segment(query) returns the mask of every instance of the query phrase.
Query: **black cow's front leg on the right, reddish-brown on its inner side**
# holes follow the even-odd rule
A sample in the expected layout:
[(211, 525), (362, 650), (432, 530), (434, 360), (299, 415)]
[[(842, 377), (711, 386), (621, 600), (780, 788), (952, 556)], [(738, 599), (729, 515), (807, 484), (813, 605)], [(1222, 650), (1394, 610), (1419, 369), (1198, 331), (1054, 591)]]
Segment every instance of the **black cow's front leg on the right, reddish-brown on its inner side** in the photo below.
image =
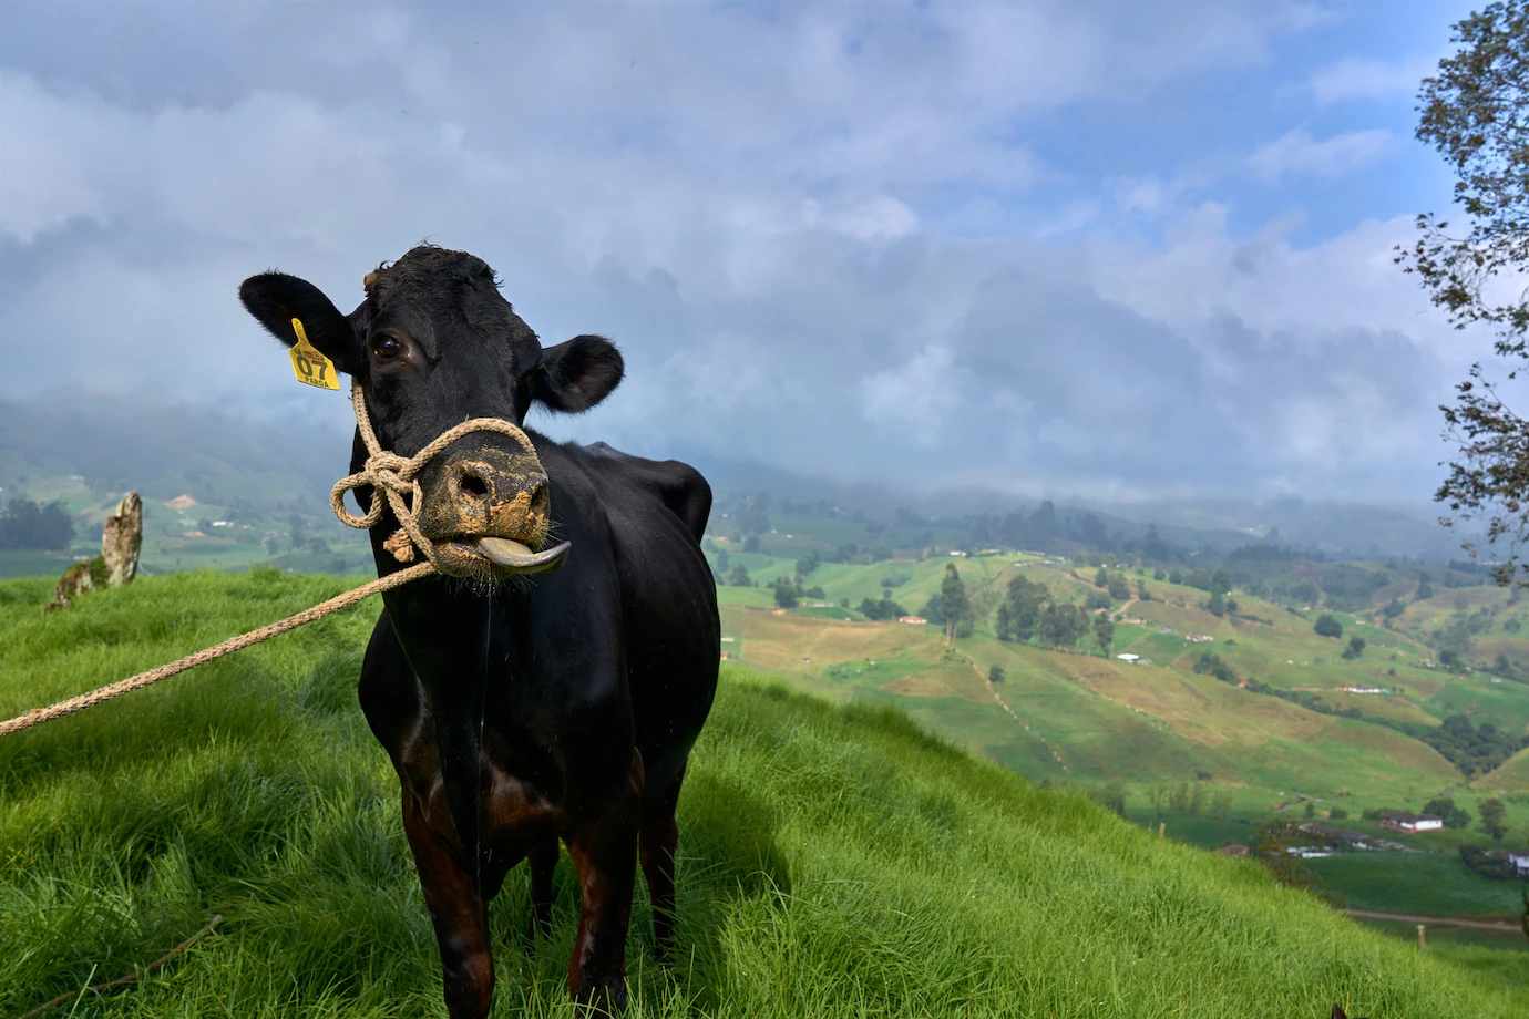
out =
[(569, 993), (609, 1013), (627, 1007), (627, 927), (638, 869), (642, 758), (631, 752), (624, 781), (589, 802), (570, 805), (569, 856), (578, 868), (581, 909)]

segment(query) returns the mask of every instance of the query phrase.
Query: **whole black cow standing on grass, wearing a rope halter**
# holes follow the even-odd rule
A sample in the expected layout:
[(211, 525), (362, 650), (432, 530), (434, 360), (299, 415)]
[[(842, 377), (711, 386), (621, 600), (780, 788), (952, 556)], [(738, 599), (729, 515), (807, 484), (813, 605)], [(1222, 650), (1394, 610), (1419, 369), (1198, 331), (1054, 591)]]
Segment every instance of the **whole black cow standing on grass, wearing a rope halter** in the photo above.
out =
[[(579, 412), (621, 382), (599, 336), (543, 348), (482, 260), (414, 247), (365, 277), (341, 315), (312, 284), (268, 272), (240, 299), (289, 347), (292, 319), (365, 393), (384, 449), (413, 455), (469, 417), (524, 420), (532, 402)], [(674, 805), (717, 684), (716, 588), (700, 552), (711, 489), (676, 461), (604, 443), (535, 449), (471, 432), (420, 474), (420, 532), (451, 576), (384, 594), (361, 707), (404, 790), (404, 830), (440, 943), (446, 1008), (483, 1016), (494, 993), (488, 901), (531, 862), (531, 938), (552, 918), (567, 843), (583, 892), (569, 992), (625, 1004), (636, 857), (661, 958), (674, 930)], [(352, 471), (365, 451), (359, 435)], [(381, 498), (359, 492), (362, 506)], [(372, 529), (378, 571), (401, 568)], [(572, 542), (566, 564), (512, 576), (515, 542)], [(521, 550), (524, 552), (524, 550)]]

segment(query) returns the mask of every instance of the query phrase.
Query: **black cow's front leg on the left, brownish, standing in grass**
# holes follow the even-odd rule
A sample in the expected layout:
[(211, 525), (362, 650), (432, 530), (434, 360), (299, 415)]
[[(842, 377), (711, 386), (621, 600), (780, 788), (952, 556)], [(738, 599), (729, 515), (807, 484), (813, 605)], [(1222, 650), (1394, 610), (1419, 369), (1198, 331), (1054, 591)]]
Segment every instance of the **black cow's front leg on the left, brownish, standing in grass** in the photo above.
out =
[(440, 946), (440, 973), (451, 1019), (482, 1019), (494, 999), (488, 911), (462, 860), (430, 827), (425, 805), (404, 788), (404, 833)]

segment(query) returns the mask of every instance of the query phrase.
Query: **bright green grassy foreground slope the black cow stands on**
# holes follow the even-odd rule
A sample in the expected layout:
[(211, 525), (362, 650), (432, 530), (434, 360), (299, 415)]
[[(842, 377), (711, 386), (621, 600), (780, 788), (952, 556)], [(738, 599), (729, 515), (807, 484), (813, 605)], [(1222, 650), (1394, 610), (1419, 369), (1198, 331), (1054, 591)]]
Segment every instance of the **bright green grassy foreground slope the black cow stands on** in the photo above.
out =
[[(0, 712), (341, 587), (177, 574), (44, 616), (46, 582), (0, 584)], [(0, 1010), (125, 973), (222, 912), (162, 976), (75, 1014), (442, 1014), (394, 779), (355, 706), (375, 611), (0, 739)], [(1335, 1001), (1509, 1016), (1521, 979), (1471, 946), (1420, 956), (1255, 863), (1159, 840), (904, 715), (740, 669), (723, 674), (680, 823), (685, 959), (673, 976), (644, 961), (639, 904), (638, 1016), (1315, 1017)], [(511, 878), (492, 909), (495, 1014), (570, 1014), (575, 900), (564, 860), (555, 937), (528, 959)]]

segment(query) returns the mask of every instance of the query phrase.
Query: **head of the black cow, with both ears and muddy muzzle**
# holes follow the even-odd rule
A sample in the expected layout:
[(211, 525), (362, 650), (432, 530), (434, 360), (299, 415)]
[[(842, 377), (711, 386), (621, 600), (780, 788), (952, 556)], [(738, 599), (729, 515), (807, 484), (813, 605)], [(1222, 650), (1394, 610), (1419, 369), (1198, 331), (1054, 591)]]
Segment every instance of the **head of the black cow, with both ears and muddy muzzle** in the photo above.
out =
[[(471, 417), (520, 425), (534, 400), (587, 411), (621, 382), (621, 354), (601, 336), (543, 348), (474, 255), (414, 247), (367, 273), (364, 286), (367, 298), (350, 315), (280, 272), (245, 280), (239, 298), (287, 347), (298, 342), (292, 319), (300, 319), (307, 341), (361, 383), (378, 440), (399, 455)], [(436, 542), (446, 573), (515, 573), (508, 542), (537, 550), (547, 541), (546, 471), (509, 435), (463, 435), (419, 483), (420, 533)]]

